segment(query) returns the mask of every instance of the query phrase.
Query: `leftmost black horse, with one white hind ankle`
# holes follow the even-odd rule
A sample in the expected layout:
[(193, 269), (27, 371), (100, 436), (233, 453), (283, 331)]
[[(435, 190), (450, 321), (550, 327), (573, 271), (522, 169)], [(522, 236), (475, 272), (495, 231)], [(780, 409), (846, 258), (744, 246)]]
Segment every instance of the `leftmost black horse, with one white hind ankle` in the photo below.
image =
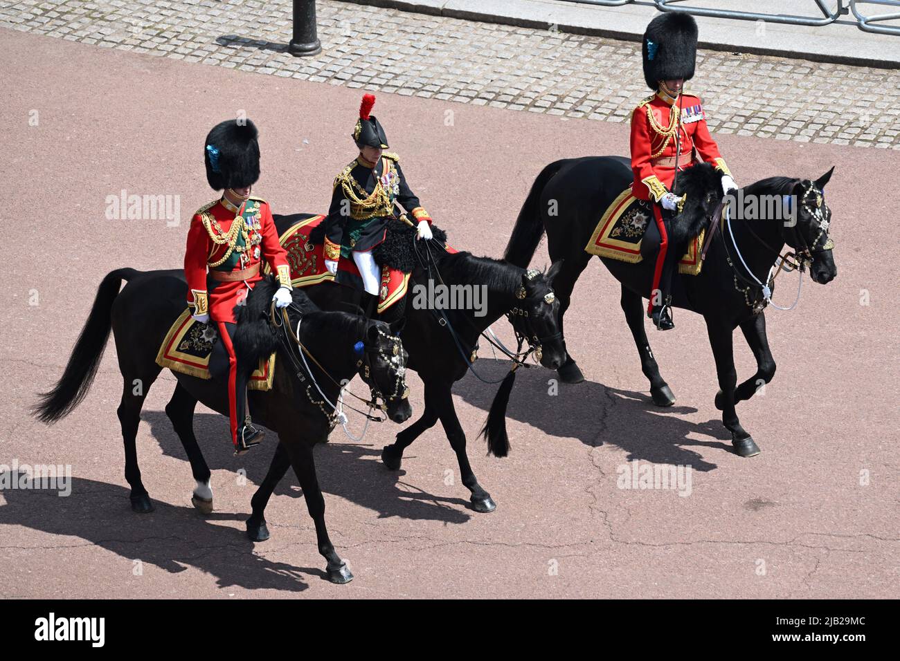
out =
[[(128, 284), (120, 291), (122, 280)], [(277, 354), (272, 389), (251, 390), (249, 408), (255, 421), (278, 434), (279, 451), (300, 480), (316, 525), (319, 551), (328, 560), (329, 580), (347, 583), (353, 576), (329, 540), (325, 500), (313, 460), (313, 448), (328, 440), (335, 424), (333, 409), (329, 410), (322, 395), (335, 402), (340, 382), (358, 373), (373, 390), (373, 399), (383, 397), (388, 417), (397, 423), (404, 422), (412, 415), (403, 378), (408, 354), (395, 336), (396, 329), (346, 312), (322, 311), (302, 290), (293, 292), (293, 304), (285, 308), (289, 310), (290, 330), (285, 333), (287, 326), (276, 330), (267, 318), (276, 287), (272, 279), (257, 283), (238, 313), (235, 348), (241, 366), (255, 364), (260, 357), (273, 352)], [(182, 271), (118, 269), (108, 273), (97, 290), (94, 307), (62, 378), (40, 397), (40, 403), (34, 408), (40, 420), (52, 423), (69, 414), (84, 399), (112, 328), (123, 380), (118, 415), (125, 443), (125, 478), (131, 487), (131, 508), (138, 513), (153, 511), (140, 479), (135, 446), (140, 409), (162, 370), (156, 362), (157, 349), (169, 327), (184, 312), (186, 292)], [(284, 323), (284, 317), (281, 319)], [(362, 347), (358, 342), (363, 343)], [(311, 356), (305, 364), (300, 355), (301, 345)], [(193, 435), (193, 410), (197, 401), (201, 401), (227, 416), (229, 406), (224, 384), (227, 376), (202, 380), (175, 373), (175, 377), (178, 383), (166, 405), (166, 415), (184, 444), (197, 480), (193, 504), (209, 514), (212, 510), (210, 469)], [(316, 384), (320, 391), (314, 388)], [(265, 529), (265, 525), (265, 520), (254, 523), (251, 536), (259, 534), (259, 528)]]

